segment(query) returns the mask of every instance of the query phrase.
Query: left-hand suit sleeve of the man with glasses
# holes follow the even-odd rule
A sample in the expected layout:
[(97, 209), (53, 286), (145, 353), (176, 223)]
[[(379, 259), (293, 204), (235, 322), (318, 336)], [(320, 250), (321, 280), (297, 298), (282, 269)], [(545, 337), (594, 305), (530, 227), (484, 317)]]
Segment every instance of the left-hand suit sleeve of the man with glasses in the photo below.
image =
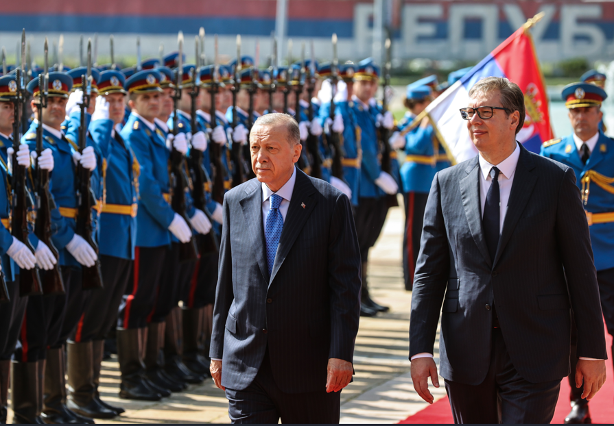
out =
[(418, 353), (433, 353), (449, 268), (449, 242), (442, 212), (439, 173), (437, 173), (431, 184), (425, 208), (420, 253), (414, 275), (410, 316), (410, 359)]

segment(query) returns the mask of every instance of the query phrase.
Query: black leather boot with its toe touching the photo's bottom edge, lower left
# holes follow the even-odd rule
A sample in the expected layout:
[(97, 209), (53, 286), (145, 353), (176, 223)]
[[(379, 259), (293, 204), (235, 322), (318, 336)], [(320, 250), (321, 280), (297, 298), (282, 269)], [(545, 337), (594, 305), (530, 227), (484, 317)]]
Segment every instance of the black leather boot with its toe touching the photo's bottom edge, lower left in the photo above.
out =
[(94, 421), (67, 408), (66, 358), (64, 348), (47, 349), (45, 366), (43, 421), (47, 424), (93, 424)]

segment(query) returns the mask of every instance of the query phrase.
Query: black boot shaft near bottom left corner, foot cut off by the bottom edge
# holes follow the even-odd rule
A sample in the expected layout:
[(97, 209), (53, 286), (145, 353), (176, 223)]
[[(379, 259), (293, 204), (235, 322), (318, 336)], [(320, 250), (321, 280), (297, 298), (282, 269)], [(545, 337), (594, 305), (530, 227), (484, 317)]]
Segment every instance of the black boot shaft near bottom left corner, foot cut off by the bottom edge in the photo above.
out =
[(13, 408), (13, 423), (40, 424), (38, 411), (38, 361), (10, 363), (11, 370), (11, 402)]

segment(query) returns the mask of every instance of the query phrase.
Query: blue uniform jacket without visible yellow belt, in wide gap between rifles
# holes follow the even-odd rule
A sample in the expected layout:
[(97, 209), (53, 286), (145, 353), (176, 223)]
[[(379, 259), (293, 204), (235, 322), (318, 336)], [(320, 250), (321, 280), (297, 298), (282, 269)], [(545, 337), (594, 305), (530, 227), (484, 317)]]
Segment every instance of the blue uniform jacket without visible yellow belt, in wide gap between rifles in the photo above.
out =
[(121, 138), (132, 147), (140, 164), (139, 210), (137, 213), (138, 247), (170, 245), (168, 230), (175, 212), (169, 204), (169, 150), (166, 141), (151, 130), (141, 118), (130, 114)]

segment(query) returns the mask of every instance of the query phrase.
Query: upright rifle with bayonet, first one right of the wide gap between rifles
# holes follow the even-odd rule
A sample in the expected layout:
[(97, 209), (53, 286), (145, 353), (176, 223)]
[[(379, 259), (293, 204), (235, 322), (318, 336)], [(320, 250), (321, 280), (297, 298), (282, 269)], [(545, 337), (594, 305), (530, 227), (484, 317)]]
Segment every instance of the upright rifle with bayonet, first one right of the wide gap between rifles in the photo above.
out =
[[(179, 32), (177, 37), (179, 45), (179, 56), (177, 58), (177, 69), (175, 70), (175, 94), (173, 95), (173, 135), (177, 136), (179, 132), (179, 121), (177, 104), (181, 99), (182, 79), (183, 79), (183, 33)], [(140, 42), (139, 42), (140, 44)], [(140, 54), (139, 54), (140, 56)], [(171, 163), (171, 207), (180, 215), (187, 223), (190, 230), (192, 229), (190, 221), (185, 213), (185, 188), (187, 188), (187, 176), (183, 164), (185, 156), (177, 151), (173, 146), (170, 155)], [(204, 210), (203, 210), (204, 212)], [(196, 249), (196, 240), (192, 236), (189, 242), (179, 242), (179, 261), (189, 262), (198, 259), (198, 250)]]

